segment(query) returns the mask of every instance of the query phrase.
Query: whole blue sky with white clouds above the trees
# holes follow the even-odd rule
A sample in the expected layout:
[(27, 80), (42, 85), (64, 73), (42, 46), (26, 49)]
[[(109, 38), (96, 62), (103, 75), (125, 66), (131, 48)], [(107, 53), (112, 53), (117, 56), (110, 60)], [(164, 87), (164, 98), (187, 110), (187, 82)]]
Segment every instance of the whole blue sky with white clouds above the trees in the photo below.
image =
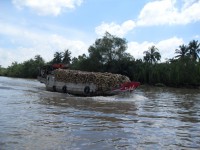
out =
[(0, 66), (67, 49), (87, 55), (105, 32), (125, 38), (135, 59), (155, 45), (166, 61), (200, 42), (200, 0), (0, 0)]

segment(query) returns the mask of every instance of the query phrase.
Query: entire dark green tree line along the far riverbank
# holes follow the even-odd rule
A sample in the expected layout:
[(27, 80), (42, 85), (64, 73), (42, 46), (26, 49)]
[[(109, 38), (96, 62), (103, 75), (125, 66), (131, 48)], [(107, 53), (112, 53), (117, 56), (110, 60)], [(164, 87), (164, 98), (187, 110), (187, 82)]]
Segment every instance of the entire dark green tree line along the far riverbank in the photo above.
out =
[(88, 56), (83, 54), (72, 58), (71, 52), (64, 50), (55, 52), (53, 59), (45, 62), (40, 55), (36, 55), (23, 63), (13, 62), (8, 68), (0, 67), (0, 75), (36, 78), (39, 67), (64, 63), (74, 70), (119, 73), (144, 84), (200, 86), (200, 43), (196, 40), (180, 45), (175, 50), (175, 56), (162, 63), (161, 54), (154, 45), (144, 51), (143, 59), (135, 59), (126, 50), (126, 39), (106, 32), (88, 48)]

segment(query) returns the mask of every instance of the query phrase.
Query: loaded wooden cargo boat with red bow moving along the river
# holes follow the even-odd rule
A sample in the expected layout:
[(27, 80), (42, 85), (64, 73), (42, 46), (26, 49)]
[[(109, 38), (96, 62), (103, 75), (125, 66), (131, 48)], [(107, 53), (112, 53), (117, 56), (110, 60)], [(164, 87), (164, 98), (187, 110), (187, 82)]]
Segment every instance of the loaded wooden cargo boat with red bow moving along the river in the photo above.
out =
[(133, 92), (139, 82), (131, 82), (121, 74), (71, 70), (67, 65), (54, 64), (40, 68), (38, 80), (48, 91), (79, 96), (111, 96)]

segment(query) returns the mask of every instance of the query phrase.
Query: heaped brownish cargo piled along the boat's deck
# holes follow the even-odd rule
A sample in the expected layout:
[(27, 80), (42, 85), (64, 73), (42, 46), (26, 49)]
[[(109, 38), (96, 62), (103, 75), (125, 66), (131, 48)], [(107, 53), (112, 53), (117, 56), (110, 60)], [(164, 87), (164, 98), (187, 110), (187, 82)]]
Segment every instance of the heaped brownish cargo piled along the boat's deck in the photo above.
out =
[(100, 72), (85, 72), (78, 70), (57, 69), (54, 71), (56, 80), (70, 83), (93, 83), (97, 86), (97, 90), (106, 91), (121, 85), (125, 82), (130, 82), (127, 76), (112, 73)]

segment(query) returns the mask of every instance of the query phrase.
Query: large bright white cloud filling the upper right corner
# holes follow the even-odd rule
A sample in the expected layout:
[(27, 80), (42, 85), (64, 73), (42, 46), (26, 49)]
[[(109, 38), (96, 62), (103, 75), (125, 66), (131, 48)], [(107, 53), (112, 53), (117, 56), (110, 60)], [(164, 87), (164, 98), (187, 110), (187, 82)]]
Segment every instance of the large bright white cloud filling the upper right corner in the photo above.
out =
[(182, 9), (177, 0), (156, 0), (147, 3), (141, 10), (137, 25), (188, 24), (200, 20), (200, 1), (184, 0)]

